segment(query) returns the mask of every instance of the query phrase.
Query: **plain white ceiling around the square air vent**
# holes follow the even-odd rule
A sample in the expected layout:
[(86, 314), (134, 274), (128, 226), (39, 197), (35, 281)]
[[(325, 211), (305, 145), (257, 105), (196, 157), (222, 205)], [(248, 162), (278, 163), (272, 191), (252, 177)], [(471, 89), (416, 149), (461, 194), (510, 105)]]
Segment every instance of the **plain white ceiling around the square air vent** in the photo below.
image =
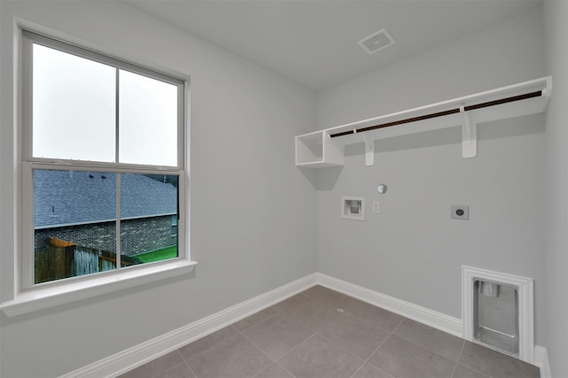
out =
[[(536, 0), (126, 0), (313, 90), (326, 89), (538, 7)], [(396, 44), (358, 42), (385, 28)]]

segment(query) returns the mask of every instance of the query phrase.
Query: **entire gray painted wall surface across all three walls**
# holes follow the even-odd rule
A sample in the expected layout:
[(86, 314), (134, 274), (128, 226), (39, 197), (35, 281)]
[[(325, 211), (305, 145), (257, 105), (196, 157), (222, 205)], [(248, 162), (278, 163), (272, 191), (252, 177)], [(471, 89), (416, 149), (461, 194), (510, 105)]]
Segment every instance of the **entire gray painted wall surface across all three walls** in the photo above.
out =
[[(460, 318), (463, 264), (536, 280), (536, 341), (548, 347), (554, 376), (568, 375), (565, 14), (565, 3), (547, 1), (546, 23), (535, 10), (316, 100), (124, 4), (0, 2), (2, 297), (12, 291), (5, 277), (18, 246), (14, 17), (191, 75), (191, 252), (199, 262), (190, 277), (0, 314), (0, 375), (64, 374), (314, 271)], [(461, 158), (456, 127), (378, 142), (374, 167), (364, 165), (362, 145), (347, 149), (343, 168), (293, 165), (294, 135), (549, 73), (547, 117), (479, 125), (475, 159)], [(390, 190), (379, 196), (382, 182)], [(365, 222), (339, 218), (343, 195), (367, 197)], [(370, 211), (373, 200), (380, 214)], [(449, 220), (450, 204), (469, 204), (470, 220)]]

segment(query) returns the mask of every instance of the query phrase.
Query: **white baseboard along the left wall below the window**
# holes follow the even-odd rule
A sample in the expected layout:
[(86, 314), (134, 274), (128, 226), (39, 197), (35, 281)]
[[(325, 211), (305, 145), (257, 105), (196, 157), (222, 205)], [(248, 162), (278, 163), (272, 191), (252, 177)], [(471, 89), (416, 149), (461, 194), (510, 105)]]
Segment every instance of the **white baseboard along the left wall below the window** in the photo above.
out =
[(214, 313), (201, 320), (194, 321), (185, 327), (177, 328), (165, 335), (155, 337), (145, 343), (120, 351), (105, 359), (100, 359), (90, 365), (83, 366), (60, 378), (100, 378), (115, 377), (131, 369), (144, 365), (146, 362), (160, 357), (170, 351), (207, 336), (217, 329), (224, 328), (235, 321), (246, 318), (255, 312), (270, 307), (288, 297), (316, 285), (316, 274), (310, 274), (290, 282), (280, 288), (273, 289), (258, 297), (249, 299), (238, 305), (233, 305), (221, 312)]

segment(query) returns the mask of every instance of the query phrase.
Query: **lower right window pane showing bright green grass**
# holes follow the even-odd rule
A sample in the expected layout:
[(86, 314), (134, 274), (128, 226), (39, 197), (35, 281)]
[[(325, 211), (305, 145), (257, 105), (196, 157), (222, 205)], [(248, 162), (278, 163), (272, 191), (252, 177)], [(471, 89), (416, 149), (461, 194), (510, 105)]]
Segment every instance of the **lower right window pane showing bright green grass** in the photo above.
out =
[(122, 266), (177, 258), (177, 175), (121, 175)]

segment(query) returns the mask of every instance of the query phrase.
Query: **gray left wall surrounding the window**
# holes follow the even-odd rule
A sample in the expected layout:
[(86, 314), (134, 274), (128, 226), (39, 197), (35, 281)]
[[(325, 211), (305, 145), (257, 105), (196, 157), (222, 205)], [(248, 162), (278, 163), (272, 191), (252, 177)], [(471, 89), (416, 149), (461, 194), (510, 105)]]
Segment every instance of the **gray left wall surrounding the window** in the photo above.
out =
[[(193, 276), (16, 318), (2, 313), (1, 376), (64, 374), (316, 271), (313, 174), (294, 166), (294, 135), (315, 125), (310, 91), (124, 4), (3, 1), (0, 12), (3, 281), (17, 248), (14, 17), (191, 75), (191, 253), (199, 262)], [(3, 285), (3, 296), (11, 289)]]

